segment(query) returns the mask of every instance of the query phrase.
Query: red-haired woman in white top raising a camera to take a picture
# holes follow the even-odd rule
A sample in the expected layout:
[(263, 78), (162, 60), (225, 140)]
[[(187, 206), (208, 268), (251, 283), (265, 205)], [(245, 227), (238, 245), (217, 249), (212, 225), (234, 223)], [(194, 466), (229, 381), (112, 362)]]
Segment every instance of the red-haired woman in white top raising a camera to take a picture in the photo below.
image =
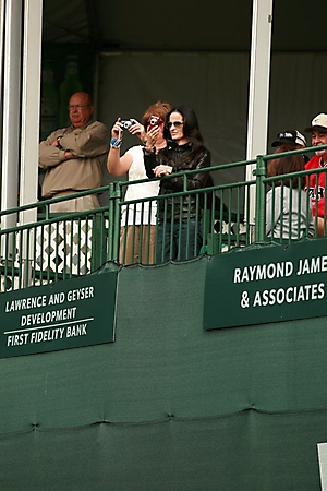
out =
[[(129, 132), (145, 142), (155, 153), (166, 147), (164, 139), (164, 122), (171, 109), (169, 103), (158, 100), (149, 106), (142, 117), (142, 123), (133, 119)], [(155, 118), (154, 118), (155, 117)], [(154, 120), (154, 121), (153, 121)], [(150, 124), (155, 122), (155, 124)], [(129, 181), (147, 179), (144, 167), (143, 145), (132, 146), (120, 156), (122, 129), (120, 118), (111, 130), (111, 145), (107, 167), (112, 176), (128, 173)], [(117, 144), (117, 142), (119, 142)], [(159, 181), (141, 182), (128, 187), (125, 201), (156, 196), (159, 192)], [(150, 206), (149, 206), (150, 205)], [(157, 202), (144, 202), (124, 205), (121, 216), (120, 262), (124, 264), (153, 264), (155, 262)], [(140, 252), (142, 250), (142, 256)]]

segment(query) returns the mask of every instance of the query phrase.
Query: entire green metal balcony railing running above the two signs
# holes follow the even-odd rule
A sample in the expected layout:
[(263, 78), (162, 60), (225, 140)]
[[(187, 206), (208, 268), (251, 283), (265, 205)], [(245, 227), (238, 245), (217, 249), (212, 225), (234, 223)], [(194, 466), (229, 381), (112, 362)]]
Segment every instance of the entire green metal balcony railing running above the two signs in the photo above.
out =
[[(307, 148), (305, 152), (312, 149)], [(303, 151), (278, 156), (300, 153)], [(217, 177), (215, 180), (219, 182), (219, 176), (225, 169), (242, 168), (245, 175), (247, 166), (254, 167), (254, 177), (247, 181), (187, 190), (190, 175), (207, 172), (207, 169), (201, 169), (162, 178), (181, 176), (183, 189), (178, 193), (124, 200), (125, 190), (131, 185), (148, 182), (144, 179), (114, 182), (93, 191), (2, 211), (1, 291), (89, 274), (107, 261), (149, 265), (167, 260), (183, 261), (202, 253), (221, 253), (250, 246), (252, 242), (275, 240), (274, 237), (266, 236), (266, 192), (268, 185), (272, 190), (276, 188), (277, 179), (283, 181), (290, 175), (267, 178), (267, 163), (272, 158), (276, 158), (276, 155), (258, 156), (253, 160), (210, 168), (210, 175)], [(324, 171), (325, 169), (315, 169), (298, 172), (296, 176), (318, 175)], [(104, 194), (106, 206), (78, 213), (50, 212), (50, 205), (55, 202), (94, 193)], [(251, 201), (253, 195), (255, 200)], [(252, 202), (255, 204), (254, 217)], [(307, 213), (310, 206), (307, 195)], [(180, 213), (181, 209), (183, 214)], [(171, 219), (171, 215), (174, 219)], [(31, 219), (31, 216), (34, 218)], [(164, 249), (159, 250), (158, 233), (166, 232), (172, 241), (174, 230), (182, 227), (185, 230), (185, 243), (182, 244), (180, 235), (177, 253), (173, 254), (170, 248), (168, 256), (165, 256)], [(192, 235), (202, 236), (199, 251), (195, 246), (193, 249), (189, 248), (194, 242)], [(301, 238), (299, 236), (299, 239)], [(287, 240), (291, 241), (291, 238)], [(184, 255), (183, 249), (186, 250)]]

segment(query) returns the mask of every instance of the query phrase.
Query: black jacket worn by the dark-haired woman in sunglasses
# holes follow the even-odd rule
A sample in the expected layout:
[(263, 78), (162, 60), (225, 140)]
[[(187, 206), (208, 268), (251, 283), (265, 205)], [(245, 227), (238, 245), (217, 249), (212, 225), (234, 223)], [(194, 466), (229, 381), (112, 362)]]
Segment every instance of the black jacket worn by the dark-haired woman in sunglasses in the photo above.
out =
[[(155, 177), (153, 169), (156, 166), (166, 165), (172, 167), (172, 175), (161, 179), (159, 195), (183, 191), (183, 176), (174, 177), (174, 173), (184, 170), (210, 167), (211, 156), (207, 148), (203, 146), (195, 155), (193, 155), (192, 149), (191, 142), (185, 143), (184, 145), (175, 145), (169, 142), (168, 146), (159, 151), (157, 155), (154, 153), (144, 153), (145, 169), (149, 179)], [(209, 172), (195, 172), (187, 176), (187, 191), (209, 185), (208, 179)], [(202, 197), (202, 194), (199, 194), (199, 204)], [(160, 218), (171, 219), (173, 215), (174, 219), (178, 219), (181, 212), (183, 218), (195, 217), (196, 215), (196, 194), (184, 195), (181, 197), (168, 197), (167, 207), (165, 207), (165, 201), (159, 200)], [(198, 209), (198, 213), (199, 212), (201, 209)]]

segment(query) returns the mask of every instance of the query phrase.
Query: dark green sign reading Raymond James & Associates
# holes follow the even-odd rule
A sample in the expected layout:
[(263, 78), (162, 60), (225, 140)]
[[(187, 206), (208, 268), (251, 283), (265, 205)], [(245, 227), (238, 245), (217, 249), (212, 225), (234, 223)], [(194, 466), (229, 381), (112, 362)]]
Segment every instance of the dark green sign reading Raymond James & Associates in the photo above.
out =
[(327, 315), (327, 239), (213, 256), (204, 328)]

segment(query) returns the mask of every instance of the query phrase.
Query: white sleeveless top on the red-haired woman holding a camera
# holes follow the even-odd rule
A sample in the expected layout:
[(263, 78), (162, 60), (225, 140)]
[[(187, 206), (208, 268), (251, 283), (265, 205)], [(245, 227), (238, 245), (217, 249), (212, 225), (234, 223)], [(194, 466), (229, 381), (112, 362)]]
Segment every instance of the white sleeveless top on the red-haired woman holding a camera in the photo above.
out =
[[(147, 179), (145, 167), (143, 146), (132, 146), (128, 149), (126, 154), (132, 155), (133, 161), (129, 170), (129, 181), (138, 181), (140, 179)], [(142, 197), (157, 196), (159, 193), (160, 181), (149, 181), (140, 184), (130, 184), (124, 197), (124, 201), (141, 200)], [(129, 215), (126, 221), (126, 208), (129, 206)], [(121, 226), (125, 225), (156, 225), (157, 215), (157, 200), (145, 201), (143, 203), (136, 203), (136, 211), (134, 214), (134, 203), (123, 205), (121, 207)], [(149, 207), (150, 207), (150, 221), (149, 221)], [(142, 220), (143, 209), (143, 220)]]

